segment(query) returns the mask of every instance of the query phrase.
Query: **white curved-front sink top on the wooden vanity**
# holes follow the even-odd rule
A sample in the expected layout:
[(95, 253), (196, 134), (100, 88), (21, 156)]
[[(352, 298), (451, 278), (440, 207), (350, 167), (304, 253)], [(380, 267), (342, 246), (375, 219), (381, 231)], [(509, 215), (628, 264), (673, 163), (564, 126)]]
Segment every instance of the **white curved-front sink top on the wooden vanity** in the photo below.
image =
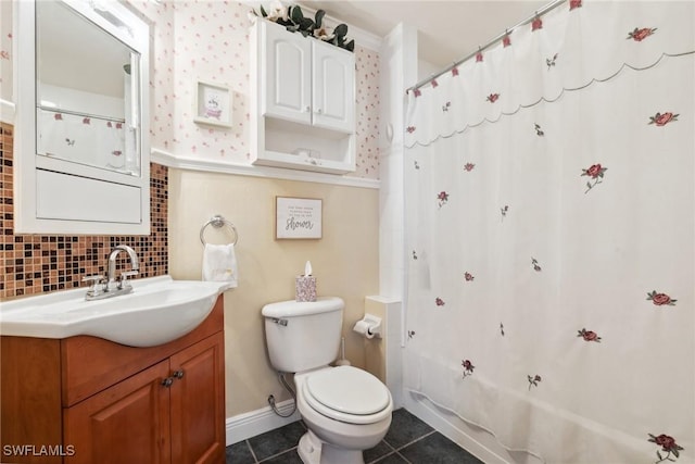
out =
[(86, 301), (86, 288), (2, 303), (0, 335), (66, 338), (90, 335), (130, 347), (154, 347), (193, 330), (212, 311), (227, 283), (132, 280), (132, 292)]

